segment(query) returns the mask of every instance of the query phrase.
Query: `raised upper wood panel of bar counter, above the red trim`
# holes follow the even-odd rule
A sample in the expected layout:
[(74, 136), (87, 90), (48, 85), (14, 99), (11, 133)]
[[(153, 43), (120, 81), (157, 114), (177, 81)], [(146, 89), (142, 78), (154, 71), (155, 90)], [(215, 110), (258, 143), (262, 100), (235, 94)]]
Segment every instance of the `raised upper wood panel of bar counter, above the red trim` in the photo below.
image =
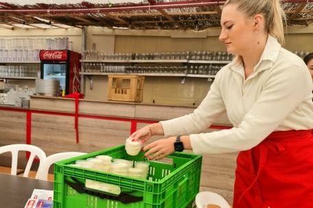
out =
[[(30, 96), (30, 110), (75, 114), (75, 99), (53, 96)], [(132, 120), (155, 121), (170, 120), (192, 114), (196, 106), (168, 105), (156, 103), (133, 103), (121, 101), (99, 101), (80, 99), (78, 114), (81, 116), (102, 116)], [(233, 127), (227, 114), (213, 123), (215, 126)]]

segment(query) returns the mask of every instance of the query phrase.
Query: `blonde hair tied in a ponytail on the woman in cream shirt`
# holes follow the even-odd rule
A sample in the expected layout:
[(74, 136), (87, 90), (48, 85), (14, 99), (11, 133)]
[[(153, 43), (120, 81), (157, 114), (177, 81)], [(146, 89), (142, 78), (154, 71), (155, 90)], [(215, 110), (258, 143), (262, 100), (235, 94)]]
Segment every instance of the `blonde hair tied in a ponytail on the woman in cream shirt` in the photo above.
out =
[(285, 36), (283, 33), (283, 21), (286, 23), (286, 15), (279, 4), (279, 0), (227, 0), (224, 7), (236, 3), (238, 10), (247, 18), (253, 18), (257, 14), (264, 16), (264, 29), (283, 45)]

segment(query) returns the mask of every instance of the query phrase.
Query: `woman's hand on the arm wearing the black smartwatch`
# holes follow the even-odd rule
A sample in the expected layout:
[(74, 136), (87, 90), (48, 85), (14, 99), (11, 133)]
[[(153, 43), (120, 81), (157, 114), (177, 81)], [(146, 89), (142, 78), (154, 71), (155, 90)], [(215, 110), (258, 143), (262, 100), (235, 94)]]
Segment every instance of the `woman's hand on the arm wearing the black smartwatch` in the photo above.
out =
[(176, 137), (152, 142), (142, 149), (142, 151), (148, 151), (144, 157), (147, 157), (149, 160), (160, 160), (175, 152), (174, 142), (176, 142)]

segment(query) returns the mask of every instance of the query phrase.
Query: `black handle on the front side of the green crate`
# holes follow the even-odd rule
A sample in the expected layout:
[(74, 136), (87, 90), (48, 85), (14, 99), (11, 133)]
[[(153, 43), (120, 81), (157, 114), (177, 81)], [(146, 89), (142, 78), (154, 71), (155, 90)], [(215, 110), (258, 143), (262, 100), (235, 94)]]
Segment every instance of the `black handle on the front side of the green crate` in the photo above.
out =
[(83, 183), (80, 183), (80, 181), (77, 181), (73, 177), (71, 177), (71, 179), (75, 182), (65, 180), (65, 183), (67, 183), (67, 185), (69, 185), (71, 188), (73, 188), (73, 190), (76, 190), (76, 192), (80, 194), (89, 194), (93, 196), (98, 196), (101, 199), (107, 198), (110, 200), (117, 200), (123, 204), (137, 203), (143, 200), (142, 196), (130, 196), (128, 194), (119, 194), (119, 196), (116, 196), (116, 195), (108, 194), (105, 192), (98, 192), (95, 190), (91, 190), (89, 188), (86, 188)]

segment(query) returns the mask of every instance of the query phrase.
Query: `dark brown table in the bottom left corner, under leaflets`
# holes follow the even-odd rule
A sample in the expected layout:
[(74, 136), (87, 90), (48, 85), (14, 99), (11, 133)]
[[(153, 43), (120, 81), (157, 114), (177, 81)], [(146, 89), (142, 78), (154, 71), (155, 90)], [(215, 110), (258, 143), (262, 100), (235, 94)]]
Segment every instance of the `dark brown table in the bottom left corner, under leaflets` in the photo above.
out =
[(34, 189), (54, 190), (54, 183), (0, 173), (0, 207), (25, 207)]

